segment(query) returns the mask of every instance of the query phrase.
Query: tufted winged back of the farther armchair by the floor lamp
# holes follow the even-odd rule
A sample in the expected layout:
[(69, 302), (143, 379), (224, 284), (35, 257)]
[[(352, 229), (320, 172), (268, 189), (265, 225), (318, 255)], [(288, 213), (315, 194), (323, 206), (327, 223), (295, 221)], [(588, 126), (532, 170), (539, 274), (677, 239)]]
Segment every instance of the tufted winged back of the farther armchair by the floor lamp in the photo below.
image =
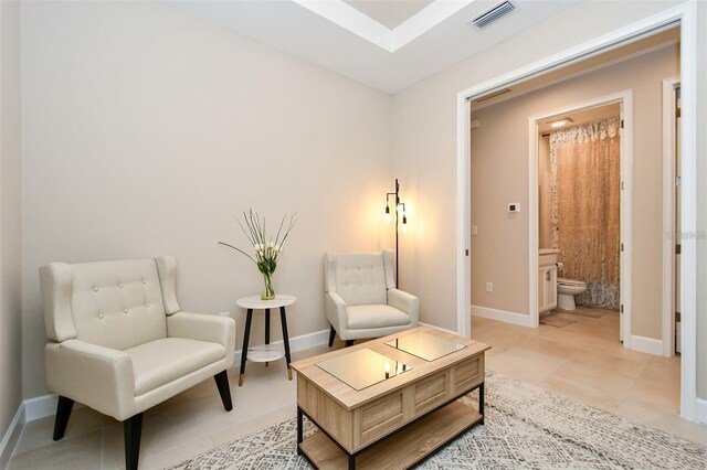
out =
[(393, 253), (326, 254), (325, 290), (337, 292), (348, 306), (386, 305), (395, 288)]

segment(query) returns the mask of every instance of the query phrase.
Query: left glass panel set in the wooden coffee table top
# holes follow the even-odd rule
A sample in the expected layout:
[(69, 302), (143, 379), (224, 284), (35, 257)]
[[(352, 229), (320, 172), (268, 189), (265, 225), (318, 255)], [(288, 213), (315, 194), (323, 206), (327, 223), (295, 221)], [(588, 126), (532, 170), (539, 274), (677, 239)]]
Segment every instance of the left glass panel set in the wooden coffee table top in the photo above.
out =
[(395, 362), (368, 348), (316, 364), (356, 391), (361, 391), (412, 370), (409, 365)]

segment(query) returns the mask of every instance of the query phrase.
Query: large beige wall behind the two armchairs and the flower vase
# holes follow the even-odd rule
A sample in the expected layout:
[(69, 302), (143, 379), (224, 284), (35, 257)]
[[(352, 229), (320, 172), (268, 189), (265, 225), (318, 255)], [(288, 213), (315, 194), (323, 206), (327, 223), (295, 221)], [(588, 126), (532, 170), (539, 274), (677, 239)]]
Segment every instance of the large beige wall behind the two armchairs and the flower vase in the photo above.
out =
[(262, 277), (217, 241), (244, 246), (249, 207), (298, 212), (275, 289), (298, 298), (292, 337), (328, 328), (324, 252), (392, 239), (389, 95), (160, 4), (25, 2), (22, 25), (27, 397), (46, 391), (48, 261), (175, 255), (182, 309), (231, 311), (240, 349), (235, 300)]

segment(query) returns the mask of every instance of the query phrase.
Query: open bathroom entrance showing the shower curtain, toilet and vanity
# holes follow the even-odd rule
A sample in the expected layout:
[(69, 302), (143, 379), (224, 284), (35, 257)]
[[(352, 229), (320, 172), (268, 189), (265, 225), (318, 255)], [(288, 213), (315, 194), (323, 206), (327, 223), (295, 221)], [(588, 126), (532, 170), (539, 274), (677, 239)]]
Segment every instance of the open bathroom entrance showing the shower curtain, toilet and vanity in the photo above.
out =
[(622, 340), (622, 184), (630, 168), (621, 164), (624, 99), (616, 98), (532, 118), (538, 210), (531, 216), (539, 323), (602, 319)]

